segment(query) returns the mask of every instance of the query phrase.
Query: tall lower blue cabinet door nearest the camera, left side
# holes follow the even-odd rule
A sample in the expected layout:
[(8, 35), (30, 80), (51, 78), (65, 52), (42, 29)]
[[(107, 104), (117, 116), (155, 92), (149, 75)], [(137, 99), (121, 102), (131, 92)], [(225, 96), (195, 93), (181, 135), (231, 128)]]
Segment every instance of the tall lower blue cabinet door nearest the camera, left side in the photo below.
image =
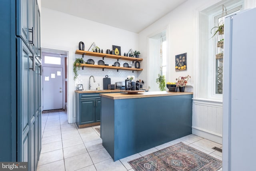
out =
[(29, 161), (30, 155), (30, 69), (33, 57), (26, 44), (17, 38), (17, 159)]

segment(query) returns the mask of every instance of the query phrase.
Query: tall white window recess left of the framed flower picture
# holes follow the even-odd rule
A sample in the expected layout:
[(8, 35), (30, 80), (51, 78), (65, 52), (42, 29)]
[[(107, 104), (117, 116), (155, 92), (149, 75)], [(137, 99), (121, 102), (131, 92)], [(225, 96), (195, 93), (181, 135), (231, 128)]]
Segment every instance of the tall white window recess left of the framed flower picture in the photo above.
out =
[(160, 91), (156, 78), (158, 74), (166, 77), (166, 29), (148, 38), (148, 88)]

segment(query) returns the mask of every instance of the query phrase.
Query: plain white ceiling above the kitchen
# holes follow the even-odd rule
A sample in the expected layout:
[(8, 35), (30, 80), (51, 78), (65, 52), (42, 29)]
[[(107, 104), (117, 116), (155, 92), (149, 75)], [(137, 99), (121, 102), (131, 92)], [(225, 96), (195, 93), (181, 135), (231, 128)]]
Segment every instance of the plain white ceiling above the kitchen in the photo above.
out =
[(42, 0), (42, 7), (139, 33), (186, 0)]

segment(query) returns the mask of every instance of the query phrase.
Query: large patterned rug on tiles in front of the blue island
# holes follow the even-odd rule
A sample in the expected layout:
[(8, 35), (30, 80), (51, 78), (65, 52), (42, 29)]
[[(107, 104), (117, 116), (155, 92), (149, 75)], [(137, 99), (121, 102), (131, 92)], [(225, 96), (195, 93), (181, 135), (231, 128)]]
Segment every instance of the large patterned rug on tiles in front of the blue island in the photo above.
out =
[(222, 161), (182, 142), (128, 162), (135, 171), (217, 171)]

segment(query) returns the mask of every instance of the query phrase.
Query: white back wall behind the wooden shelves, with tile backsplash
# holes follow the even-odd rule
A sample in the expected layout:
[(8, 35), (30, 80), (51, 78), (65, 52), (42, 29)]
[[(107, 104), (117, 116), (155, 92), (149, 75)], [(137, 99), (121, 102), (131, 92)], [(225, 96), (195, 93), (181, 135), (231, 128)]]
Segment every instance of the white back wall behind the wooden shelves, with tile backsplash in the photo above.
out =
[[(85, 89), (88, 89), (89, 77), (93, 75), (96, 79), (96, 83), (100, 83), (103, 88), (103, 78), (108, 75), (111, 78), (111, 83), (115, 84), (118, 81), (124, 81), (128, 75), (134, 75), (137, 79), (137, 72), (132, 71), (119, 71), (107, 70), (95, 68), (84, 68), (78, 72), (78, 80), (73, 80), (73, 63), (75, 58), (82, 58), (82, 55), (76, 55), (75, 51), (78, 49), (78, 43), (84, 42), (85, 50), (90, 48), (91, 44), (95, 42), (96, 46), (112, 50), (112, 45), (121, 46), (121, 54), (132, 50), (138, 50), (138, 34), (128, 32), (112, 26), (93, 22), (91, 20), (85, 20), (62, 12), (50, 10), (48, 8), (42, 8), (41, 11), (41, 46), (42, 48), (65, 50), (68, 51), (68, 121), (75, 121), (75, 86), (76, 83), (82, 83)], [(102, 16), (104, 17), (104, 16)], [(96, 58), (91, 56), (85, 56), (84, 60), (94, 59), (97, 64), (98, 60), (102, 58)], [(112, 65), (116, 60), (104, 59), (105, 64)], [(130, 62), (127, 61), (130, 65)], [(120, 64), (124, 63), (120, 60)], [(143, 63), (143, 62), (142, 62)], [(134, 67), (134, 64), (133, 64)], [(142, 68), (142, 67), (141, 67)], [(92, 82), (92, 88), (96, 89), (97, 84)]]

